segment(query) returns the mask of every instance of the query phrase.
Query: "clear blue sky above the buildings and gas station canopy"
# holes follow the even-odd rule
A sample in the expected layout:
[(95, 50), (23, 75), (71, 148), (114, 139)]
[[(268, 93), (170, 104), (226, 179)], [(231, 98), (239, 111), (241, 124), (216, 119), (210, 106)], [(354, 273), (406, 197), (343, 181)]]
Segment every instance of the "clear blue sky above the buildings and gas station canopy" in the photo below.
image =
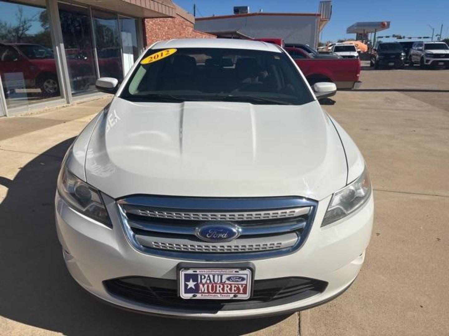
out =
[[(188, 12), (193, 12), (193, 0), (174, 0)], [(197, 17), (233, 14), (233, 6), (250, 6), (250, 12), (294, 12), (316, 13), (319, 0), (195, 0)], [(449, 37), (449, 0), (333, 0), (332, 17), (322, 32), (322, 42), (354, 38), (346, 34), (346, 28), (355, 22), (391, 21), (390, 29), (382, 35), (401, 34), (405, 36), (431, 36), (440, 34), (443, 24), (443, 38)], [(383, 39), (388, 41), (389, 39)], [(392, 39), (390, 39), (392, 40)]]

